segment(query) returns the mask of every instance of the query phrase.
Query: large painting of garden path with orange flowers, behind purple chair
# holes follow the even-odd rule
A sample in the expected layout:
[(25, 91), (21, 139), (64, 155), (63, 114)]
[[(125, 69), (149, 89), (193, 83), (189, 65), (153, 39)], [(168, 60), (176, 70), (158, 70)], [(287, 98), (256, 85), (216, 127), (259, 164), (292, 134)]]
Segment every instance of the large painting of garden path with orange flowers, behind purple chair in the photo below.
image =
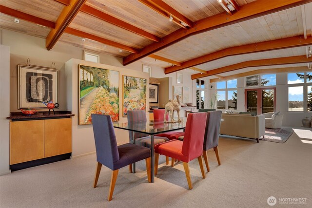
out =
[(79, 125), (91, 124), (91, 114), (107, 114), (119, 120), (119, 72), (78, 65)]

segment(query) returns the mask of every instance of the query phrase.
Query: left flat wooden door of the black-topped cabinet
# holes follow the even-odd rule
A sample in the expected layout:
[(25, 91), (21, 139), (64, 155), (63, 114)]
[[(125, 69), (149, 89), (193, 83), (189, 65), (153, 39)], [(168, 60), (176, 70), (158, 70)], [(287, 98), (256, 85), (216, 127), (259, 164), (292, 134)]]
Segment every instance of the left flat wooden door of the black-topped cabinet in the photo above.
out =
[(44, 157), (44, 120), (10, 122), (10, 165)]

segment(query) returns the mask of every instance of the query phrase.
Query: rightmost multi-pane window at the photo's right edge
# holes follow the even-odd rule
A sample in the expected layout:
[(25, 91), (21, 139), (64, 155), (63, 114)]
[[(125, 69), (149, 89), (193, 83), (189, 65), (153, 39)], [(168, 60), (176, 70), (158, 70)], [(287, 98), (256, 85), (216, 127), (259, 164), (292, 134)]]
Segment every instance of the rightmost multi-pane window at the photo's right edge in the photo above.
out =
[(312, 73), (288, 73), (288, 111), (312, 111)]

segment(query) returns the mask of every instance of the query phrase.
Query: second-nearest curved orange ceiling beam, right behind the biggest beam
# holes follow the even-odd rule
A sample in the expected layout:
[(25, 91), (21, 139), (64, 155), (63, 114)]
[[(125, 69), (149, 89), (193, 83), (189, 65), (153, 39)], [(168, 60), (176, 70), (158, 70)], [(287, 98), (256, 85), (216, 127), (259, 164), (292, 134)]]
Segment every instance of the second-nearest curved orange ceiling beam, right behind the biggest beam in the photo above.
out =
[(296, 36), (292, 38), (282, 38), (277, 40), (270, 40), (259, 43), (252, 43), (247, 45), (235, 46), (232, 48), (226, 48), (221, 51), (216, 51), (211, 54), (197, 57), (182, 63), (181, 66), (172, 66), (165, 69), (165, 74), (177, 72), (182, 69), (186, 69), (199, 64), (207, 63), (212, 60), (216, 60), (223, 57), (229, 57), (234, 55), (256, 53), (298, 46), (305, 46), (312, 44), (312, 37), (305, 39), (303, 36)]

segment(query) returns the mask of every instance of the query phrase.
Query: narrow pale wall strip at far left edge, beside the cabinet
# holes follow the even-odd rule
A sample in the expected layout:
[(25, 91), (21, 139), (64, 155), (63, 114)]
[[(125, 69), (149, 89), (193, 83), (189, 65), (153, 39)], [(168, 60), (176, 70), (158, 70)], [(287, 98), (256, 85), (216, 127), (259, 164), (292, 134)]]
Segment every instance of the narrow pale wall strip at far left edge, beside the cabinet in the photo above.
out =
[(10, 47), (0, 45), (0, 175), (10, 173)]

